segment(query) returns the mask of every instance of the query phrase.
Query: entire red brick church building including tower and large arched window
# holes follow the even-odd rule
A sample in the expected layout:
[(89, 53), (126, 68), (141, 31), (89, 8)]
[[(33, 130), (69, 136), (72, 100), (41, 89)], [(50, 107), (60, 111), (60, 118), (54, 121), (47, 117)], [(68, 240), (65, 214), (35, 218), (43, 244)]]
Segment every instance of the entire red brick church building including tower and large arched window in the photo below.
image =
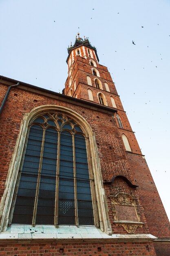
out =
[(0, 255), (170, 255), (170, 223), (107, 67), (80, 38), (62, 94), (0, 76)]

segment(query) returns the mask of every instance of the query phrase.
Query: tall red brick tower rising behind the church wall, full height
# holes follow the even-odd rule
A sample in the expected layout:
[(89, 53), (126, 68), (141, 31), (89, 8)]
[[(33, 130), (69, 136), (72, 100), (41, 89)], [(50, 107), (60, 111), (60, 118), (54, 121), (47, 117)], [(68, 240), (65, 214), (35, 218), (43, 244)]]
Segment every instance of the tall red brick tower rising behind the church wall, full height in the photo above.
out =
[[(148, 226), (146, 232), (159, 238), (154, 243), (157, 254), (164, 255), (164, 252), (166, 255), (168, 249), (162, 248), (163, 246), (169, 247), (169, 220), (108, 68), (99, 64), (96, 48), (91, 45), (88, 38), (80, 38), (79, 33), (76, 36), (75, 44), (68, 47), (66, 62), (68, 63), (68, 78), (64, 94), (116, 110), (114, 118), (117, 124), (117, 133), (123, 141), (128, 167), (124, 168), (122, 175), (129, 177), (134, 184), (137, 184), (137, 196), (141, 209), (143, 209), (141, 211), (143, 212), (143, 221), (146, 221), (145, 227)], [(117, 160), (116, 157), (114, 160)], [(110, 172), (106, 166), (105, 169), (106, 172)], [(115, 175), (119, 174), (120, 172), (116, 171)], [(104, 183), (107, 184), (107, 182)], [(159, 241), (164, 241), (163, 243), (166, 241), (168, 244), (161, 245)]]

